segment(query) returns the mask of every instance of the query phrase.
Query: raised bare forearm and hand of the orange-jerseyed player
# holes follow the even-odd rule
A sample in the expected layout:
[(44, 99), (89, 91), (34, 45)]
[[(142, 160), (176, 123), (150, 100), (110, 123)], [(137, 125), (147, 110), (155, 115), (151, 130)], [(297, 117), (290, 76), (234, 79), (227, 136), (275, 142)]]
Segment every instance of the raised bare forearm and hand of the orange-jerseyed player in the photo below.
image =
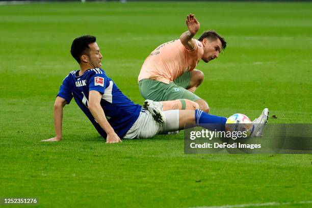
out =
[(195, 41), (192, 38), (198, 32), (200, 24), (194, 14), (189, 14), (187, 16), (186, 24), (188, 31), (181, 34), (180, 41), (187, 49), (192, 50), (195, 47)]

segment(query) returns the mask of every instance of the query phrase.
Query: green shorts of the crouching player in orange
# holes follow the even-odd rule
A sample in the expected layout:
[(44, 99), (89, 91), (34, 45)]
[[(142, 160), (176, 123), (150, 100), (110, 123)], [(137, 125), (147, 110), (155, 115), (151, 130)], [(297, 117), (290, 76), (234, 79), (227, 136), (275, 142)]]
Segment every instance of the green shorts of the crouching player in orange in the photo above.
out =
[[(189, 75), (190, 76), (190, 75)], [(181, 84), (186, 84), (185, 78), (178, 80)], [(184, 81), (183, 81), (184, 80)], [(189, 85), (189, 83), (188, 83)], [(189, 99), (192, 101), (196, 101), (201, 99), (193, 92), (178, 86), (174, 82), (170, 82), (169, 84), (143, 79), (139, 82), (139, 89), (141, 95), (145, 99), (150, 99), (154, 101), (165, 101), (165, 100), (176, 100), (176, 99)]]

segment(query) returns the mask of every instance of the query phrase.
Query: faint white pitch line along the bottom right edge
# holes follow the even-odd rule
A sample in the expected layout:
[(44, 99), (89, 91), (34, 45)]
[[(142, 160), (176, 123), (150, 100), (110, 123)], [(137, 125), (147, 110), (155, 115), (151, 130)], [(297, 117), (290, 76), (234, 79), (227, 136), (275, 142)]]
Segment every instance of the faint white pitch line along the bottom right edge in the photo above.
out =
[(252, 207), (252, 206), (279, 206), (290, 204), (310, 204), (312, 201), (299, 201), (299, 202), (267, 202), (267, 203), (253, 203), (253, 204), (235, 204), (235, 205), (221, 205), (221, 206), (194, 206), (190, 208), (240, 208), (240, 207)]

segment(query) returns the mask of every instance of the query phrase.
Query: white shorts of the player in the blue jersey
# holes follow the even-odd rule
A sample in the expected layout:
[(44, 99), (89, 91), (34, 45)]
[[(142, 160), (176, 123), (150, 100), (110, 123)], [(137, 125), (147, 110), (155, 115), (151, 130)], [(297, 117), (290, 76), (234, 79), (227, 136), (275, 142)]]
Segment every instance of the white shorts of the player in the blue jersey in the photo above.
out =
[(179, 129), (179, 110), (163, 111), (166, 122), (156, 122), (148, 111), (141, 111), (139, 118), (127, 131), (124, 139), (146, 139), (164, 133), (174, 132)]

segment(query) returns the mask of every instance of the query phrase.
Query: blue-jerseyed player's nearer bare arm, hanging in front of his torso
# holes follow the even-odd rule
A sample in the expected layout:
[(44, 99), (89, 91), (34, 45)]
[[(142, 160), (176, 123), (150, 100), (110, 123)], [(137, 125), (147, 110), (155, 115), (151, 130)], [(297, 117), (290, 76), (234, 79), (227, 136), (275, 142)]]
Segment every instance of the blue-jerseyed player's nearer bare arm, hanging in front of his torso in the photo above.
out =
[(100, 105), (102, 95), (95, 90), (89, 92), (89, 110), (98, 124), (106, 132), (106, 143), (122, 142), (118, 135), (115, 133), (113, 127), (110, 125), (105, 117), (105, 113)]

